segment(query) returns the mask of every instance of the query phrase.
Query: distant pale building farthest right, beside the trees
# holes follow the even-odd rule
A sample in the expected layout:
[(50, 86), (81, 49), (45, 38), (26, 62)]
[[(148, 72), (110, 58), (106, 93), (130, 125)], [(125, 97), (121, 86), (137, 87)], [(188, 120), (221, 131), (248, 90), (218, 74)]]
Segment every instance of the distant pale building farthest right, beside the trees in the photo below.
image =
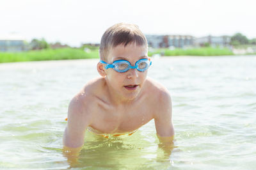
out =
[(230, 46), (230, 36), (204, 36), (201, 38), (196, 38), (195, 44), (197, 46), (205, 46), (205, 44), (209, 44), (212, 47), (229, 47)]

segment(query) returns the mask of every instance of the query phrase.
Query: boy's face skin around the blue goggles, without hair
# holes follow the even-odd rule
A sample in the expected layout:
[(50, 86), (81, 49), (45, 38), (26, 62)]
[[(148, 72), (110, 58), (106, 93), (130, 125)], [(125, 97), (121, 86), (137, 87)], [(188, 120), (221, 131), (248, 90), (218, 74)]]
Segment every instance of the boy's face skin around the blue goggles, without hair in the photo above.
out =
[[(118, 45), (109, 50), (108, 63), (124, 59), (135, 65), (136, 61), (142, 58), (148, 58), (147, 48), (145, 46), (137, 46), (134, 43)], [(140, 72), (137, 69), (130, 69), (127, 72), (119, 73), (112, 68), (106, 70), (106, 81), (120, 99), (132, 100), (138, 96), (147, 77), (147, 70)]]

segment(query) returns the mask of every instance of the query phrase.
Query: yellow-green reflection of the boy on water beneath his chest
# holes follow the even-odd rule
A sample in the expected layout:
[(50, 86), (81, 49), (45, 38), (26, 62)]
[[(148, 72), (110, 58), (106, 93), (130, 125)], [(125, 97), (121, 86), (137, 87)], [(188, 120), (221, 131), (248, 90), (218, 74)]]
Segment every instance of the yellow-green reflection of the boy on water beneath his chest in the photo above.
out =
[(170, 166), (174, 144), (150, 142), (144, 140), (140, 132), (136, 133), (133, 136), (103, 138), (86, 132), (86, 142), (79, 155), (66, 153), (65, 157), (70, 167), (143, 169), (157, 164)]

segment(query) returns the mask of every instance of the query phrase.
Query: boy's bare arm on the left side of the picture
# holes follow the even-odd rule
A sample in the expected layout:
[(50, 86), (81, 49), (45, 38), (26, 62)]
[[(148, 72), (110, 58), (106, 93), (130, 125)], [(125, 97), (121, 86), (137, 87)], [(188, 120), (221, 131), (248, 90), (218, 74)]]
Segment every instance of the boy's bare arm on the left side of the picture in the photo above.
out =
[(74, 98), (68, 106), (68, 122), (63, 135), (63, 146), (67, 150), (81, 148), (85, 130), (89, 125), (88, 113), (83, 102)]

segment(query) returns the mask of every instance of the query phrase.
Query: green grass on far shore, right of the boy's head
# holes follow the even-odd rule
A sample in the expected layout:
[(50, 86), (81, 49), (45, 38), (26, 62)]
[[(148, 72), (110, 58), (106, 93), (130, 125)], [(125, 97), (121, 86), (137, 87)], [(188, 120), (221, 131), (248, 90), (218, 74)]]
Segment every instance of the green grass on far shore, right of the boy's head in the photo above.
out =
[(162, 56), (227, 56), (234, 55), (227, 48), (200, 47), (195, 49), (155, 49), (148, 52), (148, 56), (161, 54)]

